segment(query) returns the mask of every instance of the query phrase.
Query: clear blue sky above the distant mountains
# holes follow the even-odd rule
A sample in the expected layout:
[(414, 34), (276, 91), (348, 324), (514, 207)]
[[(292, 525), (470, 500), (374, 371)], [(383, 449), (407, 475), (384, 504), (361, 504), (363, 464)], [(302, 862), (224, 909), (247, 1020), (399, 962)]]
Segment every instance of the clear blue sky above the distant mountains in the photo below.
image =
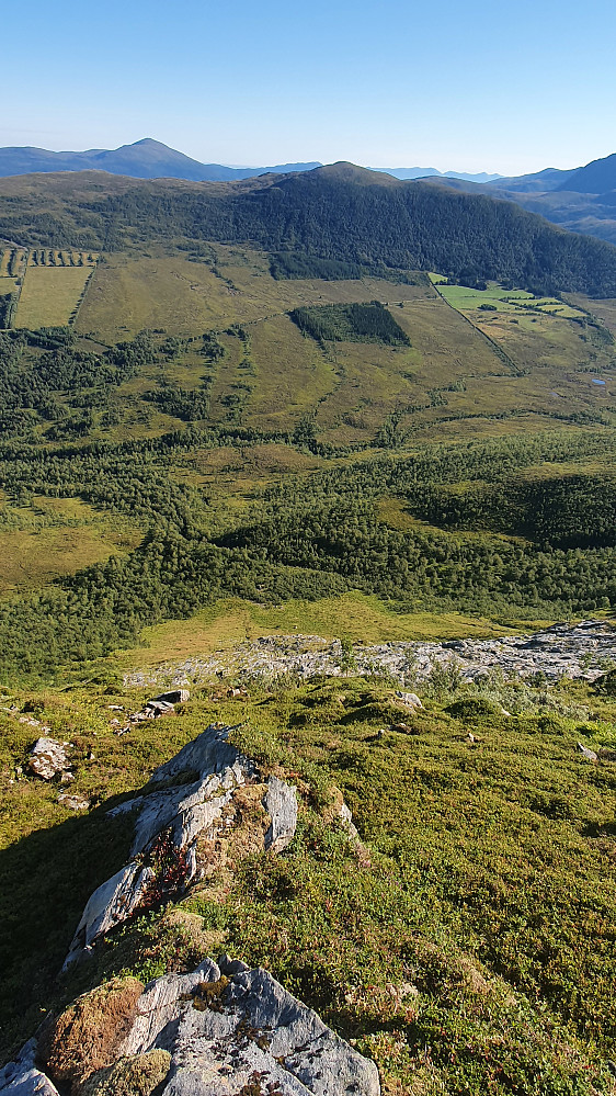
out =
[(2, 39), (0, 145), (501, 174), (616, 151), (613, 0), (28, 0)]

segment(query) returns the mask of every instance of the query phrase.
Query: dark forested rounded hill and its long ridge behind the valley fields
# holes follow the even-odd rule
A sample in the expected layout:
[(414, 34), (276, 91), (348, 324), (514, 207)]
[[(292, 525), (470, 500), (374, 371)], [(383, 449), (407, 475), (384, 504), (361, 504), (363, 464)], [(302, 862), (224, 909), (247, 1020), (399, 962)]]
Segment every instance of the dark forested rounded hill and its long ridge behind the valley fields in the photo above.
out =
[(122, 249), (181, 237), (253, 241), (372, 267), (509, 278), (616, 295), (616, 250), (517, 206), (354, 165), (237, 184), (36, 176), (0, 187), (0, 234), (46, 247)]

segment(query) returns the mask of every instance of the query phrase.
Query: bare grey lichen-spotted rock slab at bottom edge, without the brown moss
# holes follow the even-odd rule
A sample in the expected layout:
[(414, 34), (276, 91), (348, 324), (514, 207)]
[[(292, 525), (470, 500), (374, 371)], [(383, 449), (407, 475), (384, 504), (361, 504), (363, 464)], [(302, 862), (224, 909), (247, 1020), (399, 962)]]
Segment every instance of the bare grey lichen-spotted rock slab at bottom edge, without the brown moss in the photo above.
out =
[(276, 1096), (380, 1093), (374, 1062), (261, 968), (226, 979), (206, 960), (151, 982), (118, 1053), (153, 1048), (171, 1054), (162, 1096), (230, 1096), (258, 1083)]

